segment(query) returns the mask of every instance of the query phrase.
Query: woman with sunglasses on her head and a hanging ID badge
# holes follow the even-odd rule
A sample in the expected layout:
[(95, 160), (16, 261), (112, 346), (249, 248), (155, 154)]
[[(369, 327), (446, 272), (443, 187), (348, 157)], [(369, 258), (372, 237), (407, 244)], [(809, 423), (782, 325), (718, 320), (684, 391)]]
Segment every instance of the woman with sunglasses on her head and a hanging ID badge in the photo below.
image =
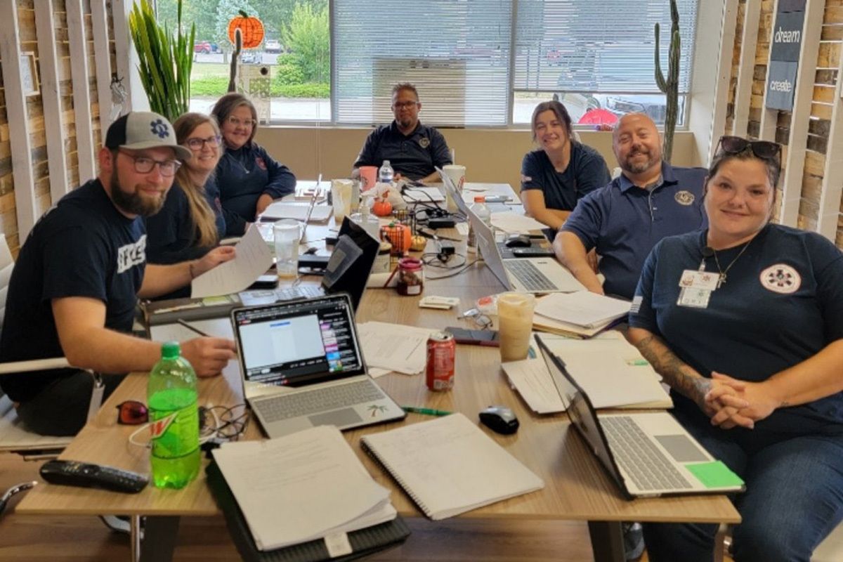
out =
[[(770, 222), (780, 158), (774, 142), (720, 139), (708, 228), (652, 249), (630, 314), (676, 419), (746, 483), (738, 561), (807, 561), (843, 519), (843, 253)], [(651, 560), (711, 561), (716, 531), (644, 526)]]

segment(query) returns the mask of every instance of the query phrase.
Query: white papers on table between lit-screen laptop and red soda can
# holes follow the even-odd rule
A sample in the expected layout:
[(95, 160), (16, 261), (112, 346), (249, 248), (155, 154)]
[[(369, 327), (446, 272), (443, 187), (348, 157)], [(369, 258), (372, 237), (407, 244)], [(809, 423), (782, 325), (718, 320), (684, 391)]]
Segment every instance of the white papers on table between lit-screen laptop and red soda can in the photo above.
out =
[(433, 329), (404, 324), (367, 322), (357, 325), (363, 356), (368, 367), (415, 375), (424, 371), (427, 338)]

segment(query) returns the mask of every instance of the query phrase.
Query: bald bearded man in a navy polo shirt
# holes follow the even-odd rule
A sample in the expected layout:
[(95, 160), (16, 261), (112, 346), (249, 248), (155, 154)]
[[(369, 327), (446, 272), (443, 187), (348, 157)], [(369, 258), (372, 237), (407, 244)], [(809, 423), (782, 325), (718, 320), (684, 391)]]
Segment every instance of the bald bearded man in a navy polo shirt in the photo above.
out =
[[(622, 174), (583, 197), (556, 234), (556, 257), (589, 291), (631, 299), (659, 240), (706, 226), (706, 170), (663, 162), (661, 145), (652, 119), (624, 115), (612, 134)], [(588, 262), (591, 249), (601, 256), (603, 286)]]

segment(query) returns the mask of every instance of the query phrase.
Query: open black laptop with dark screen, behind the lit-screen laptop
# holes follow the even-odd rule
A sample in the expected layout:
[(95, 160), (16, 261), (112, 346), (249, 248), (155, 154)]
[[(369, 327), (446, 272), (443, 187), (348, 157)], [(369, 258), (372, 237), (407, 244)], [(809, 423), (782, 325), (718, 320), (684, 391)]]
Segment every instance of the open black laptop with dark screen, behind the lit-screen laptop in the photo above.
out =
[(352, 306), (357, 310), (366, 290), (366, 281), (378, 257), (380, 241), (357, 222), (345, 217), (337, 235), (334, 251), (330, 254), (321, 286), (293, 286), (281, 289), (244, 291), (239, 293), (244, 306), (270, 304), (294, 298), (320, 297), (336, 292), (347, 292)]

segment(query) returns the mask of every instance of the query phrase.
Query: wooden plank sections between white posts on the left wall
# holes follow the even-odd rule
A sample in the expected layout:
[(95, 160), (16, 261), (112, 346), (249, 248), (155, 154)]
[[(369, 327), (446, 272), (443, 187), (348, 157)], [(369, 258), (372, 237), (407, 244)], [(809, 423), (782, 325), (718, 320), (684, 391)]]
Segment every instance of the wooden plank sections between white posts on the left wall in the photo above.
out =
[[(19, 27), (19, 52), (32, 51), (35, 53), (36, 66), (40, 73), (41, 54), (37, 33), (43, 30), (37, 29), (35, 24), (35, 3), (46, 0), (3, 0), (3, 2), (14, 2), (17, 6), (17, 18)], [(72, 1), (72, 0), (71, 0)], [(76, 0), (78, 2), (78, 0)], [(108, 52), (97, 53), (94, 50), (94, 27), (91, 19), (91, 3), (105, 4), (108, 13)], [(78, 151), (76, 142), (76, 111), (73, 107), (73, 93), (76, 88), (85, 88), (91, 106), (83, 113), (90, 116), (93, 129), (94, 147), (99, 148), (102, 131), (100, 129), (99, 114), (99, 88), (108, 88), (108, 83), (99, 83), (96, 76), (97, 57), (103, 57), (109, 68), (114, 68), (115, 47), (113, 40), (113, 20), (110, 10), (110, 2), (105, 0), (83, 0), (82, 1), (82, 25), (81, 30), (86, 52), (88, 54), (88, 79), (73, 81), (71, 79), (71, 51), (69, 45), (69, 30), (67, 29), (67, 7), (65, 0), (52, 0), (53, 25), (52, 35), (55, 40), (56, 51), (56, 72), (58, 78), (58, 96), (61, 104), (61, 119), (59, 122), (45, 122), (44, 105), (41, 94), (28, 96), (26, 98), (26, 115), (13, 115), (12, 119), (25, 119), (29, 131), (31, 145), (33, 184), (29, 189), (35, 191), (35, 217), (39, 217), (53, 204), (51, 195), (51, 177), (48, 171), (47, 136), (59, 136), (63, 140), (64, 153), (66, 156), (66, 178), (67, 185), (52, 186), (53, 193), (65, 193), (77, 187), (80, 181), (89, 178), (79, 177)], [(45, 53), (44, 56), (51, 56)], [(101, 61), (99, 61), (102, 64)], [(0, 60), (0, 67), (3, 61)], [(0, 75), (2, 76), (2, 75)], [(2, 78), (0, 78), (2, 80)], [(40, 82), (40, 80), (39, 80)], [(108, 91), (106, 89), (106, 91)], [(102, 126), (108, 125), (108, 118), (111, 108), (105, 108)], [(18, 220), (14, 202), (15, 170), (12, 165), (11, 146), (13, 139), (9, 138), (9, 115), (6, 110), (5, 88), (0, 82), (0, 232), (6, 234), (9, 246), (13, 254), (17, 255), (22, 235), (19, 233)], [(61, 168), (60, 168), (61, 169)]]

